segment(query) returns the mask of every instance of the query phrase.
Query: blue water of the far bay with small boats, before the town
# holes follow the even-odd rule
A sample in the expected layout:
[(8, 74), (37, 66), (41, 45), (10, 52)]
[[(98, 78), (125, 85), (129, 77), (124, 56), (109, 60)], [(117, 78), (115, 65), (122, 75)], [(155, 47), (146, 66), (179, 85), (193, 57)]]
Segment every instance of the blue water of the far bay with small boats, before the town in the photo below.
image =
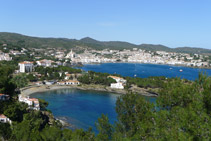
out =
[[(146, 78), (149, 76), (181, 77), (188, 80), (198, 78), (199, 72), (206, 72), (211, 76), (211, 69), (189, 68), (181, 66), (156, 65), (156, 64), (133, 64), (133, 63), (104, 63), (87, 64), (81, 69), (95, 72), (107, 72), (110, 74), (120, 74), (122, 76), (131, 76)], [(180, 72), (180, 69), (183, 71)]]

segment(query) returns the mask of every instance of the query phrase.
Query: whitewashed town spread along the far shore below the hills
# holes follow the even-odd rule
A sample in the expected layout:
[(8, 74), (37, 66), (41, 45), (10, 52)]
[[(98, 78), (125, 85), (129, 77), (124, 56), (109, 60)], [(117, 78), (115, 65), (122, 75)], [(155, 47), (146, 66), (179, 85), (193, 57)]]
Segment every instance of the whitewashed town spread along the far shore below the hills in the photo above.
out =
[[(49, 59), (45, 62), (47, 66), (65, 64), (88, 64), (88, 63), (148, 63), (168, 64), (188, 67), (211, 67), (211, 56), (209, 54), (187, 54), (165, 51), (147, 51), (138, 48), (132, 50), (95, 50), (90, 48), (75, 47), (73, 49), (62, 48), (19, 48), (9, 49), (7, 44), (0, 48), (0, 60), (11, 61), (16, 56), (28, 55), (32, 60), (40, 58)], [(42, 63), (42, 62), (39, 62)]]

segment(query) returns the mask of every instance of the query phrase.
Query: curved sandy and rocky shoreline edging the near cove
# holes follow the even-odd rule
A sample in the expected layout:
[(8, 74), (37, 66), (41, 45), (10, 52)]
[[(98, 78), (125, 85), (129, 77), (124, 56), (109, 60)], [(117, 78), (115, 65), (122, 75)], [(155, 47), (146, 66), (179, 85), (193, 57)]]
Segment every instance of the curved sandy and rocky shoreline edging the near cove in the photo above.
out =
[[(78, 90), (92, 90), (92, 91), (101, 91), (101, 92), (109, 92), (109, 93), (116, 93), (116, 94), (126, 94), (128, 93), (127, 90), (123, 89), (112, 89), (108, 86), (103, 86), (103, 85), (30, 85), (28, 87), (24, 87), (21, 90), (21, 95), (22, 96), (30, 96), (34, 93), (38, 92), (47, 92), (47, 91), (52, 91), (52, 90), (59, 90), (59, 89), (78, 89)], [(131, 92), (147, 96), (147, 97), (157, 97), (157, 94), (153, 92), (149, 92), (147, 89), (139, 88), (139, 89), (131, 89)]]

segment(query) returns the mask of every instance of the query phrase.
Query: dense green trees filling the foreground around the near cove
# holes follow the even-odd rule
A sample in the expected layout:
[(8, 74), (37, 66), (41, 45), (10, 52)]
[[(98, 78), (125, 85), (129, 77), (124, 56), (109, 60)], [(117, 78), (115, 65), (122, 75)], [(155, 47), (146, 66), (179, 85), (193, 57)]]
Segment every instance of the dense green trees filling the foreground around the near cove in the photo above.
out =
[[(150, 78), (147, 83), (163, 81), (156, 103), (150, 103), (137, 94), (126, 94), (116, 102), (117, 122), (109, 123), (102, 115), (96, 122), (99, 131), (63, 129), (46, 111), (48, 105), (40, 100), (42, 111), (27, 110), (26, 104), (17, 102), (13, 68), (0, 66), (0, 90), (13, 96), (0, 101), (0, 114), (5, 114), (12, 125), (0, 123), (0, 138), (5, 140), (210, 140), (211, 136), (211, 77), (199, 75), (194, 82), (180, 78), (166, 80)], [(85, 76), (98, 81), (109, 74), (89, 72)], [(88, 79), (90, 80), (90, 79)], [(139, 82), (139, 78), (129, 83)], [(147, 80), (147, 79), (144, 79)], [(106, 84), (105, 82), (102, 84)], [(100, 82), (100, 80), (99, 80)], [(97, 83), (97, 82), (96, 82)], [(8, 85), (9, 84), (9, 85)], [(140, 86), (145, 86), (140, 84)]]

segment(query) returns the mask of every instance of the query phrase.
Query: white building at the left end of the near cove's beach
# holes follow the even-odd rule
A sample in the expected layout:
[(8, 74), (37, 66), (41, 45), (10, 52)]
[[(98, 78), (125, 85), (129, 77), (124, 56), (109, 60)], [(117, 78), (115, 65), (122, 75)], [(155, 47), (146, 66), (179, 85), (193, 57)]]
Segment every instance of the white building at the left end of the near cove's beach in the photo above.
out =
[(28, 104), (30, 109), (40, 110), (40, 103), (36, 98), (23, 97), (22, 95), (19, 95), (18, 100)]

